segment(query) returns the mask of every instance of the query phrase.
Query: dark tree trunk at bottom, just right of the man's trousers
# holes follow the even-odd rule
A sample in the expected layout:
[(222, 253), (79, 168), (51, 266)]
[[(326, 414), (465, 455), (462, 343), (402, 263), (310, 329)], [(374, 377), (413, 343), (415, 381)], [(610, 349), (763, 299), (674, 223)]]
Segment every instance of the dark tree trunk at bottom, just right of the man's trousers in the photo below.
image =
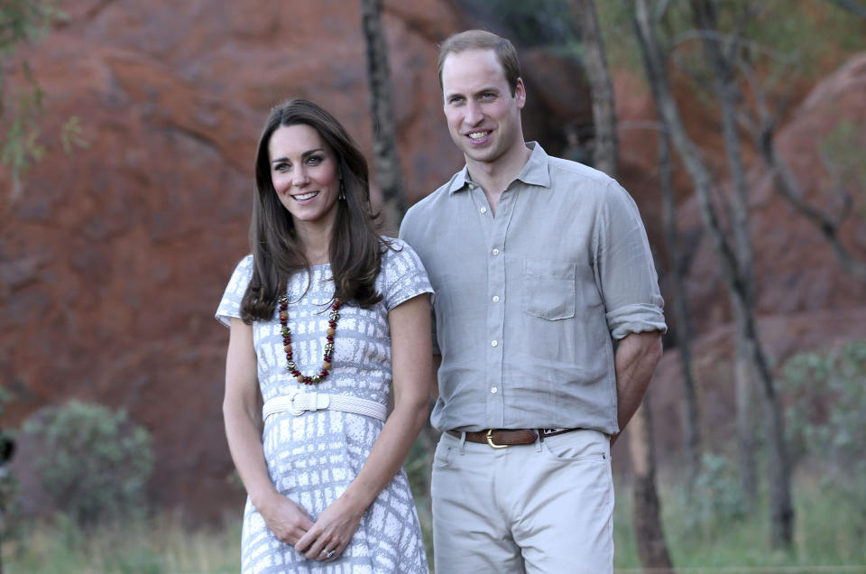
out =
[(634, 533), (643, 568), (653, 572), (673, 572), (659, 519), (656, 458), (652, 444), (650, 402), (644, 398), (629, 422), (629, 452), (634, 467)]

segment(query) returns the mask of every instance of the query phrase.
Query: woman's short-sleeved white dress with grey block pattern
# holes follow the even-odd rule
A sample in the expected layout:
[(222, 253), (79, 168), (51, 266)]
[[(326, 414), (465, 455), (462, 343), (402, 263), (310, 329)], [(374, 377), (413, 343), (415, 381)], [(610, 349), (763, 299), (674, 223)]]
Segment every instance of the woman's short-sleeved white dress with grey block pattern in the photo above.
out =
[[(403, 301), (432, 292), (418, 255), (399, 239), (382, 255), (376, 289), (383, 299), (364, 310), (344, 304), (339, 310), (330, 375), (315, 388), (298, 383), (286, 370), (277, 310), (271, 320), (253, 322), (263, 399), (297, 391), (345, 394), (385, 404), (392, 380), (391, 332), (388, 312)], [(241, 299), (253, 274), (253, 255), (235, 268), (217, 309), (228, 325), (240, 316)], [(308, 287), (309, 280), (309, 290)], [(334, 284), (330, 265), (295, 273), (288, 284), (289, 328), (293, 358), (301, 373), (321, 370), (325, 330)], [(304, 292), (306, 291), (306, 294)], [(315, 521), (327, 505), (345, 492), (364, 465), (384, 423), (340, 411), (277, 412), (264, 424), (263, 448), (273, 484), (281, 494), (303, 506)], [(280, 542), (247, 497), (241, 542), (245, 573), (299, 572), (336, 574), (428, 572), (424, 542), (406, 473), (401, 469), (364, 513), (339, 559), (307, 560), (290, 544)]]

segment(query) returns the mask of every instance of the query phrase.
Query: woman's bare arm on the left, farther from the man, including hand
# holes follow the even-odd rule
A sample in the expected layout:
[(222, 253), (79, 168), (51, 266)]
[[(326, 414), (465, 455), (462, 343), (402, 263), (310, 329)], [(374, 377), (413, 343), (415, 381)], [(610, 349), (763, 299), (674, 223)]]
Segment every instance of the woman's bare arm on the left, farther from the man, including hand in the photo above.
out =
[(268, 528), (282, 542), (294, 544), (313, 525), (309, 514), (277, 492), (268, 474), (262, 449), (262, 411), (253, 348), (253, 327), (232, 318), (226, 355), (226, 421), (228, 449), (246, 492)]

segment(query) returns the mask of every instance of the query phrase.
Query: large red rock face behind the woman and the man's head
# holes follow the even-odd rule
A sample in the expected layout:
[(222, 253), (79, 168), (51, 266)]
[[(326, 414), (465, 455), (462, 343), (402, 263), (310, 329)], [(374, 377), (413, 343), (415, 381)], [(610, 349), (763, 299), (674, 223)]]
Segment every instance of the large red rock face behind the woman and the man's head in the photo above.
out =
[[(0, 172), (0, 384), (15, 397), (3, 425), (69, 397), (124, 406), (154, 436), (154, 501), (214, 518), (239, 508), (240, 491), (226, 481), (227, 330), (211, 318), (247, 252), (259, 130), (273, 104), (309, 97), (370, 156), (359, 5), (64, 9), (69, 21), (21, 52), (46, 94), (46, 157), (18, 198)], [(439, 112), (436, 42), (467, 23), (447, 0), (387, 2), (385, 23), (414, 201), (462, 164)], [(576, 65), (527, 58), (530, 137), (589, 123)], [(67, 155), (56, 136), (70, 116), (88, 147)]]

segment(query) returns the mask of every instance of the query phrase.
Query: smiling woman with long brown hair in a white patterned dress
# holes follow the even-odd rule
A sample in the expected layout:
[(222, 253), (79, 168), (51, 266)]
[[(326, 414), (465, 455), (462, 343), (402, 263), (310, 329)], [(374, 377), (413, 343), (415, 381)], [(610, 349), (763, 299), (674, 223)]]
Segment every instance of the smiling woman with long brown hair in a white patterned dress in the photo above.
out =
[(411, 248), (376, 234), (367, 178), (327, 111), (272, 110), (253, 253), (217, 310), (244, 572), (428, 572), (401, 465), (427, 418), (432, 290)]

